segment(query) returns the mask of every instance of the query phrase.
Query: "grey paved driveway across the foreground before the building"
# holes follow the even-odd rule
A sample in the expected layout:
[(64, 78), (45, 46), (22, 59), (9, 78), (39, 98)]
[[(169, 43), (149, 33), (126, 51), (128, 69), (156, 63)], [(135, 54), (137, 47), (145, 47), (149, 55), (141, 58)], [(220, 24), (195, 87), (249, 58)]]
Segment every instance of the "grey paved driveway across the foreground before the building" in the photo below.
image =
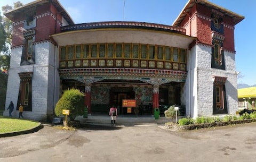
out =
[(0, 161), (255, 161), (256, 123), (173, 132), (161, 126), (44, 126), (0, 138)]

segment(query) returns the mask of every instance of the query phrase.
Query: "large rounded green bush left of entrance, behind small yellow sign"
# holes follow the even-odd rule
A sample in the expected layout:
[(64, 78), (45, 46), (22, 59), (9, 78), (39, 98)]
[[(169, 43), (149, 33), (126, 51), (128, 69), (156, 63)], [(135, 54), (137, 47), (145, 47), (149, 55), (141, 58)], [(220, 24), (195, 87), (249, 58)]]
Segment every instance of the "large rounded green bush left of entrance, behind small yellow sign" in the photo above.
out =
[(62, 115), (62, 110), (69, 110), (70, 121), (74, 121), (77, 116), (83, 115), (84, 93), (78, 89), (65, 90), (62, 97), (55, 106), (55, 114)]

